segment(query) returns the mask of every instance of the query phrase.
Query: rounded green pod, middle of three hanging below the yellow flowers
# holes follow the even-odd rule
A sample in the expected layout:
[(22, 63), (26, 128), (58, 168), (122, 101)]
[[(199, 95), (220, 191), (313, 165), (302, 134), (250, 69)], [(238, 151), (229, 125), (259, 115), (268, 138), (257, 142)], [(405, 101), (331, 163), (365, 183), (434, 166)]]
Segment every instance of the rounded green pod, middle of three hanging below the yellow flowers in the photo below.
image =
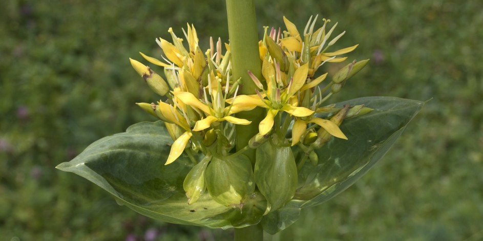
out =
[(244, 155), (234, 158), (213, 157), (205, 172), (209, 194), (219, 204), (243, 208), (248, 196), (255, 191), (251, 162)]

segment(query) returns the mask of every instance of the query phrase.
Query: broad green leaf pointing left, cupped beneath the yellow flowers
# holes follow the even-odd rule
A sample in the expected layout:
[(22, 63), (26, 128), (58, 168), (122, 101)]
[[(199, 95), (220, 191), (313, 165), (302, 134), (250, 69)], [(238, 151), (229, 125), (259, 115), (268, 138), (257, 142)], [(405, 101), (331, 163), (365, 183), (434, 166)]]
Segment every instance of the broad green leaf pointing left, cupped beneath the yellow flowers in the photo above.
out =
[(223, 229), (260, 222), (265, 209), (260, 193), (251, 195), (241, 212), (218, 204), (210, 195), (188, 205), (183, 181), (193, 164), (183, 154), (165, 166), (172, 143), (163, 122), (141, 122), (92, 143), (57, 168), (90, 180), (118, 203), (164, 222)]

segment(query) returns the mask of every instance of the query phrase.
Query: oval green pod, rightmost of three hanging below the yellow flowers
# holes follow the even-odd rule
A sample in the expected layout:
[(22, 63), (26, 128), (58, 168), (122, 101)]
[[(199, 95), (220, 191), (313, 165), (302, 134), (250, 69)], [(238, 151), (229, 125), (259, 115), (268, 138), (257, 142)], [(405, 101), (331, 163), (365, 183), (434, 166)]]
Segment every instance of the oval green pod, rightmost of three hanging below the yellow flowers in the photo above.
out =
[(290, 147), (272, 140), (258, 147), (254, 172), (257, 187), (267, 200), (265, 214), (281, 208), (295, 195), (297, 165)]

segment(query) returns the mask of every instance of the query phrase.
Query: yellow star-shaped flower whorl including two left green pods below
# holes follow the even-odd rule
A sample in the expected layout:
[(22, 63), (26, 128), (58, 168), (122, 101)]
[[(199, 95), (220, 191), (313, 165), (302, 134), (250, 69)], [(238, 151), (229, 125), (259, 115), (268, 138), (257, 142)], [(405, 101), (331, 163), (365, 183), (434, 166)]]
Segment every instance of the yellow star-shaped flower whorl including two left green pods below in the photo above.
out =
[[(168, 32), (172, 42), (156, 39), (164, 53), (163, 61), (141, 53), (149, 62), (164, 68), (165, 79), (131, 59), (136, 72), (164, 99), (137, 104), (164, 121), (174, 140), (165, 165), (174, 162), (183, 152), (195, 164), (184, 182), (189, 204), (196, 202), (207, 188), (218, 203), (241, 208), (246, 196), (255, 190), (250, 160), (241, 155), (244, 150), (257, 148), (272, 136), (277, 139), (277, 145), (285, 146), (274, 148), (286, 152), (291, 159), (293, 154), (288, 146), (301, 148), (304, 158), (312, 158), (313, 150), (332, 136), (347, 139), (339, 128), (344, 118), (369, 111), (364, 106), (323, 105), (332, 94), (340, 91), (348, 78), (364, 67), (367, 60), (354, 60), (346, 65), (321, 90), (319, 84), (328, 74), (316, 76), (318, 69), (326, 62), (344, 61), (346, 57), (340, 55), (353, 51), (358, 45), (328, 52), (345, 32), (331, 38), (337, 24), (326, 31), (330, 22), (326, 19), (323, 19), (324, 25), (314, 31), (317, 17), (313, 21), (310, 17), (303, 35), (285, 17), (287, 31), (272, 28), (268, 33), (268, 27), (265, 28), (265, 35), (259, 42), (262, 76), (258, 78), (248, 71), (256, 85), (254, 95), (237, 95), (241, 79), (232, 76), (229, 45), (223, 45), (221, 39), (215, 45), (210, 38), (210, 48), (203, 52), (194, 26), (187, 25), (187, 30), (183, 29), (184, 39), (178, 38), (171, 28)], [(183, 41), (187, 42), (187, 48)], [(248, 125), (253, 120), (233, 115), (256, 107), (266, 109), (266, 116), (258, 124), (259, 133), (245, 148), (234, 153), (235, 125)], [(327, 119), (318, 113), (326, 113)], [(195, 158), (200, 151), (204, 156), (202, 161)], [(287, 165), (295, 165), (288, 160), (285, 160)], [(223, 173), (220, 174), (220, 170)], [(256, 177), (257, 167), (255, 172)], [(295, 182), (296, 174), (290, 176)], [(258, 181), (257, 185), (260, 190), (264, 189)], [(285, 202), (290, 197), (280, 200)]]

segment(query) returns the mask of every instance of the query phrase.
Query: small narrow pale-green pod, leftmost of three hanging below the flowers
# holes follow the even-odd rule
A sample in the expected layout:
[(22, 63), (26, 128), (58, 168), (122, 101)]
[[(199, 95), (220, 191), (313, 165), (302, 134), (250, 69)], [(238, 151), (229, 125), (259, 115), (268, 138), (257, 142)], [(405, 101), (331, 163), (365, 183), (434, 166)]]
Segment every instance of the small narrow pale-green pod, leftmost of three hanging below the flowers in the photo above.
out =
[(186, 197), (188, 198), (188, 204), (191, 205), (196, 202), (206, 189), (205, 182), (205, 171), (206, 166), (208, 166), (209, 161), (212, 157), (207, 155), (196, 164), (190, 172), (186, 175), (183, 182), (183, 189), (186, 192)]

